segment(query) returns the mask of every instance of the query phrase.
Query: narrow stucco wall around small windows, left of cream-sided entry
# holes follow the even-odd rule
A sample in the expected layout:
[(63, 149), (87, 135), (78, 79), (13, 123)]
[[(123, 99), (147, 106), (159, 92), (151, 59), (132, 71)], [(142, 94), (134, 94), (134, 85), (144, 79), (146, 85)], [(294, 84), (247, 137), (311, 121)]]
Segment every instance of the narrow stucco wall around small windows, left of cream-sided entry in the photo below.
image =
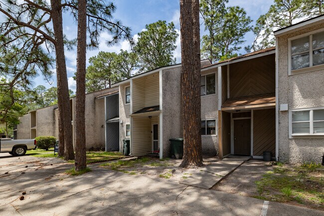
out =
[(123, 121), (123, 124), (120, 124), (120, 134), (119, 134), (119, 143), (120, 143), (120, 152), (123, 152), (123, 139), (126, 138), (126, 125), (131, 124), (130, 114), (131, 114), (131, 104), (126, 104), (125, 88), (130, 86), (130, 82), (122, 84), (119, 86), (119, 121)]

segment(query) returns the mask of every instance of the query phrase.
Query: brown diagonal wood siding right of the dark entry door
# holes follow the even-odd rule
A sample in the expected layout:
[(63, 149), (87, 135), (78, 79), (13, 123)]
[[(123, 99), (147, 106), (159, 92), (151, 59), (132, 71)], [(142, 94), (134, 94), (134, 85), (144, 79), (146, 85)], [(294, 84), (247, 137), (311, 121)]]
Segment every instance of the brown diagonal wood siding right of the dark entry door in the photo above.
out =
[(276, 154), (276, 111), (253, 111), (253, 156), (263, 156), (264, 151)]

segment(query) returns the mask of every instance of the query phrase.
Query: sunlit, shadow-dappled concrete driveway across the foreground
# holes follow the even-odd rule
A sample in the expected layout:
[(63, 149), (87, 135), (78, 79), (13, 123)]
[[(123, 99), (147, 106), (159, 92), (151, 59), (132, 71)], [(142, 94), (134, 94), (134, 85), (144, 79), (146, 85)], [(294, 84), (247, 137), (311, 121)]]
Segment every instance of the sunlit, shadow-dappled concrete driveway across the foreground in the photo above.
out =
[[(81, 176), (65, 175), (72, 166), (55, 158), (1, 154), (0, 216), (323, 215), (322, 211), (99, 167)], [(19, 200), (21, 196), (24, 200)]]

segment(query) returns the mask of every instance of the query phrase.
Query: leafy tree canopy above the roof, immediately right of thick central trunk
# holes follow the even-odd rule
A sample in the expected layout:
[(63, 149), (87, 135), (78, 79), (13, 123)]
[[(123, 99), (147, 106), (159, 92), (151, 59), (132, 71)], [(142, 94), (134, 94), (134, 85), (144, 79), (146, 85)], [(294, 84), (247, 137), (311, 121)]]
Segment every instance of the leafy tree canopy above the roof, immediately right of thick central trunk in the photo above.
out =
[(228, 0), (200, 0), (200, 15), (204, 19), (201, 55), (212, 62), (237, 56), (245, 40), (245, 34), (252, 29), (251, 18), (239, 6), (226, 7)]

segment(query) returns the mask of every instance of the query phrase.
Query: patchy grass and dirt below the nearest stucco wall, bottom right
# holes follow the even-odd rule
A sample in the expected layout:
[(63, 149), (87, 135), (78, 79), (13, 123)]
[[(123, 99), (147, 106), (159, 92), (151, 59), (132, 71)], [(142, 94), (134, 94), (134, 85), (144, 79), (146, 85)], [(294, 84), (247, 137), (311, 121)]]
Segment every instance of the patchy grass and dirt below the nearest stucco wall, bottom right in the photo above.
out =
[(262, 200), (293, 202), (309, 208), (324, 209), (324, 169), (316, 163), (301, 166), (274, 166), (256, 181)]

